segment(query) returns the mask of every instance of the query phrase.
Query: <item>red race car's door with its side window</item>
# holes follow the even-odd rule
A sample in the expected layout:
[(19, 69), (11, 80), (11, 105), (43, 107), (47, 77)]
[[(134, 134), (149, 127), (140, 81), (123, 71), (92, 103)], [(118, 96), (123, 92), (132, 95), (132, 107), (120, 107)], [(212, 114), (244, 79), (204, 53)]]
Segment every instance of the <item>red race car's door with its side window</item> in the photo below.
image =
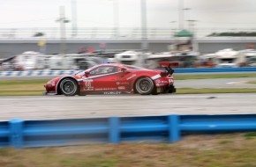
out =
[(117, 67), (100, 66), (89, 72), (88, 84), (94, 91), (117, 91), (117, 75)]

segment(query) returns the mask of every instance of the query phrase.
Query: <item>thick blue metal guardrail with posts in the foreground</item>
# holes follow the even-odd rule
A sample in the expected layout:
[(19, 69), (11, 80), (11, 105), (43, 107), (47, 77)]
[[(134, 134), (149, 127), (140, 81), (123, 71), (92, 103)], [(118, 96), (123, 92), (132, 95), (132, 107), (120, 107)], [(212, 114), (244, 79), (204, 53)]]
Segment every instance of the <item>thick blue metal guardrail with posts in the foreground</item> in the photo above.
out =
[(166, 115), (0, 122), (0, 147), (16, 149), (118, 142), (177, 142), (183, 132), (253, 131), (256, 114)]

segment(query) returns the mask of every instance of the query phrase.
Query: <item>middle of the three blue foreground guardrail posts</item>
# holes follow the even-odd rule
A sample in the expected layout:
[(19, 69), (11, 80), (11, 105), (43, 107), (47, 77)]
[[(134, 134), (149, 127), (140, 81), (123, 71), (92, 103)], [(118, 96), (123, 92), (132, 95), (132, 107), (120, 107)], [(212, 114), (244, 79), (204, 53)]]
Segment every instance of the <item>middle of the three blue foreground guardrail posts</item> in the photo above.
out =
[(109, 118), (109, 142), (120, 142), (119, 122), (120, 119), (118, 117)]

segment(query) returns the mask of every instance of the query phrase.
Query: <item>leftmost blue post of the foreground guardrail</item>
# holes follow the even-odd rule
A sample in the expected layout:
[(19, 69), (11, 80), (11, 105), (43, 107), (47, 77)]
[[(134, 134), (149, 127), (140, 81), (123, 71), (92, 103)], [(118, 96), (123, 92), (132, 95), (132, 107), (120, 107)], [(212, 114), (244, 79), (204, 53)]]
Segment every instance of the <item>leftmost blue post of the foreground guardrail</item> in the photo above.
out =
[(23, 147), (23, 120), (15, 119), (10, 120), (11, 134), (9, 136), (11, 146), (15, 149), (21, 149)]

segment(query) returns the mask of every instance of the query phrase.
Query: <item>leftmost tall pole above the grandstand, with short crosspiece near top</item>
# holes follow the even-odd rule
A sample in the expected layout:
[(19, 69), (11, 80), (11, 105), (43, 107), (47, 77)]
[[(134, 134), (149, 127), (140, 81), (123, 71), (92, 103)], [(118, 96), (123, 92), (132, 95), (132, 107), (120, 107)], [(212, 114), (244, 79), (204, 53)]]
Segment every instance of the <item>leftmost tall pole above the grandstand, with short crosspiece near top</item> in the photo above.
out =
[(60, 23), (60, 54), (66, 54), (65, 23), (68, 23), (69, 20), (65, 18), (64, 6), (60, 6), (59, 18), (56, 19), (56, 22)]

